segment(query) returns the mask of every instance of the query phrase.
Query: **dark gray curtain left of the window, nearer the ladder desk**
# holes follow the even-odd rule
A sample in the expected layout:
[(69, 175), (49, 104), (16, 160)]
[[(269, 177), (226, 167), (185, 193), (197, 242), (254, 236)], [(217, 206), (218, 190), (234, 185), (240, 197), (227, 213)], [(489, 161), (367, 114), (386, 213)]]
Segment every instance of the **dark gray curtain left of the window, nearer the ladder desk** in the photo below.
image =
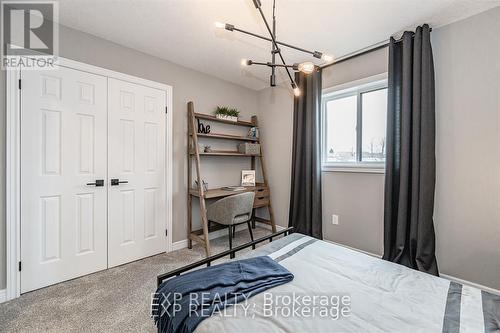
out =
[(321, 70), (297, 73), (301, 95), (293, 110), (292, 189), (289, 226), (322, 239)]

